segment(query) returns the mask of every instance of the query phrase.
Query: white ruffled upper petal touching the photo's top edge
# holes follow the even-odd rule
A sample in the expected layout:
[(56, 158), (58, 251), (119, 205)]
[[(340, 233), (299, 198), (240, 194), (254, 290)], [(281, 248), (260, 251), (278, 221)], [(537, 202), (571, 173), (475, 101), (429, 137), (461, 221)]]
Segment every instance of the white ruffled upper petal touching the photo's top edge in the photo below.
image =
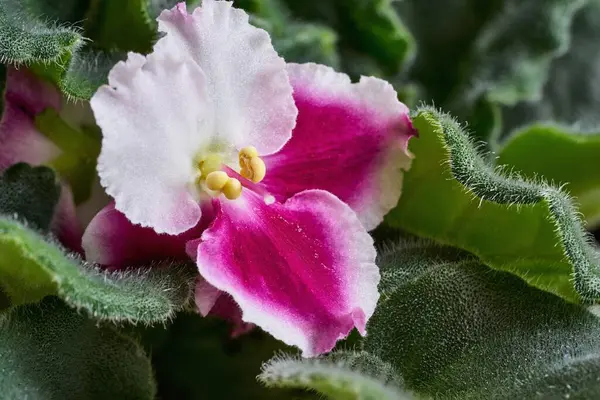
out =
[(260, 154), (280, 149), (297, 109), (285, 61), (269, 34), (250, 25), (229, 1), (204, 0), (191, 15), (180, 3), (163, 11), (158, 24), (166, 36), (156, 51), (191, 57), (206, 74), (218, 135), (238, 149), (255, 146)]

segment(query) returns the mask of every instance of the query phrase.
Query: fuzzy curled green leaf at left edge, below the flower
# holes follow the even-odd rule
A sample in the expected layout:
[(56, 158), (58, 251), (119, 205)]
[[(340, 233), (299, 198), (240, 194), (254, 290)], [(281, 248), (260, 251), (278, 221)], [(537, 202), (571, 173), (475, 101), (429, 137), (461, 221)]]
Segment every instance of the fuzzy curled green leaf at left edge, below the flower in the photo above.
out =
[(170, 262), (103, 271), (22, 224), (0, 218), (0, 282), (14, 305), (56, 294), (95, 318), (165, 322), (190, 301), (194, 278), (194, 271)]

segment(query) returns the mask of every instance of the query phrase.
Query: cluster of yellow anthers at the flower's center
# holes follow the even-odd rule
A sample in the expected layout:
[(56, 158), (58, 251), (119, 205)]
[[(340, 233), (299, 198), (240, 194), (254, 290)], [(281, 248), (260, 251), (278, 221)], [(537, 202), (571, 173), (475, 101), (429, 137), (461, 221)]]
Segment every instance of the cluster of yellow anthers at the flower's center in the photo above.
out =
[[(200, 172), (196, 184), (209, 191), (215, 197), (223, 194), (229, 200), (235, 200), (242, 195), (242, 186), (253, 189), (265, 178), (267, 167), (258, 156), (253, 146), (244, 147), (238, 154), (239, 174), (223, 162), (223, 157), (217, 153), (209, 153), (198, 162)], [(241, 179), (238, 179), (241, 178)], [(248, 180), (242, 185), (241, 180)]]

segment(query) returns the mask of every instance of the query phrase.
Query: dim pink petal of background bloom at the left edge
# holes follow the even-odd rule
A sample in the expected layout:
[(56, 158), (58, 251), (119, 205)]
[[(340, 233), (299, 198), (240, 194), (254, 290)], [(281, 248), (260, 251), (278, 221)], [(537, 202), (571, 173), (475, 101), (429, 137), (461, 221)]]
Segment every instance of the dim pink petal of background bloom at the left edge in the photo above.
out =
[(60, 109), (58, 90), (25, 68), (8, 67), (0, 122), (0, 170), (18, 163), (43, 164), (60, 150), (35, 127), (46, 108)]

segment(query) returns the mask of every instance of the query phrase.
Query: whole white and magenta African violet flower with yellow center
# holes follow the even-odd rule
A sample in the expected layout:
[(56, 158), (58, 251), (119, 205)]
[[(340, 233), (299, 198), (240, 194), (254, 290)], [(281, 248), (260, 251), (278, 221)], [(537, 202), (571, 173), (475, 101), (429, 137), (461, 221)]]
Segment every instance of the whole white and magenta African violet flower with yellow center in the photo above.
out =
[(88, 258), (122, 242), (106, 222), (121, 212), (162, 234), (153, 246), (187, 242), (203, 313), (228, 293), (305, 356), (364, 334), (379, 297), (367, 229), (400, 196), (408, 110), (381, 80), (286, 65), (230, 2), (180, 3), (158, 22), (153, 53), (129, 54), (91, 101), (118, 211), (92, 221)]

